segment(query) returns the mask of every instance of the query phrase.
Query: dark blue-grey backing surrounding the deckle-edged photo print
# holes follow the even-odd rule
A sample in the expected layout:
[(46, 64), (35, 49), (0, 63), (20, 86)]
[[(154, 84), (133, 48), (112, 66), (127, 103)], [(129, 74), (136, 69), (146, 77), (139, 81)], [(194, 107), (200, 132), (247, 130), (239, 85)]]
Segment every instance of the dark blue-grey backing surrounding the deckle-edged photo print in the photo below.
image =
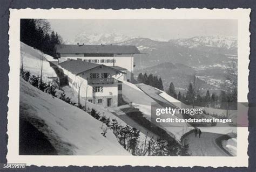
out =
[[(91, 0), (91, 1), (82, 1), (82, 0), (1, 0), (0, 1), (0, 163), (6, 163), (6, 153), (7, 153), (7, 139), (8, 135), (6, 134), (7, 126), (7, 112), (8, 112), (8, 56), (9, 56), (9, 46), (8, 46), (8, 30), (9, 30), (9, 9), (24, 9), (24, 8), (41, 8), (41, 9), (51, 9), (51, 8), (82, 8), (82, 9), (140, 9), (140, 8), (166, 8), (166, 9), (175, 9), (175, 8), (251, 8), (251, 23), (250, 23), (250, 32), (251, 32), (251, 54), (250, 54), (250, 76), (249, 76), (249, 91), (248, 101), (251, 105), (255, 105), (256, 101), (256, 1), (255, 0), (142, 0), (142, 1), (128, 1), (128, 0)], [(17, 60), (17, 62), (19, 62)], [(250, 111), (249, 111), (250, 112)], [(249, 113), (249, 127), (250, 135), (248, 141), (250, 142), (248, 146), (248, 155), (250, 156), (249, 167), (248, 168), (203, 168), (203, 167), (193, 167), (193, 168), (171, 168), (171, 167), (36, 167), (31, 166), (27, 167), (26, 171), (256, 171), (256, 125), (255, 124), (255, 113)], [(253, 124), (254, 123), (254, 124)], [(129, 162), (127, 162), (129, 163)], [(2, 170), (3, 171), (3, 170)], [(12, 170), (8, 170), (12, 171)], [(22, 171), (22, 170), (18, 170)]]

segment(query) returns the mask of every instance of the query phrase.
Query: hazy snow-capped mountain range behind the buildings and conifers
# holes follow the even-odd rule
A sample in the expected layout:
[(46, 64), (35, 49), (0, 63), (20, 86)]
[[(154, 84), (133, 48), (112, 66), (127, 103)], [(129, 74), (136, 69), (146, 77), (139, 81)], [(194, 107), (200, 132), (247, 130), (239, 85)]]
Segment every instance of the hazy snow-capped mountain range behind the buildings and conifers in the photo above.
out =
[(225, 79), (225, 68), (237, 62), (237, 38), (227, 36), (192, 37), (158, 41), (150, 38), (131, 38), (127, 35), (77, 34), (69, 44), (134, 45), (141, 54), (134, 55), (134, 75), (152, 73), (162, 78), (164, 88), (170, 82), (185, 90), (197, 73), (202, 89), (218, 90)]

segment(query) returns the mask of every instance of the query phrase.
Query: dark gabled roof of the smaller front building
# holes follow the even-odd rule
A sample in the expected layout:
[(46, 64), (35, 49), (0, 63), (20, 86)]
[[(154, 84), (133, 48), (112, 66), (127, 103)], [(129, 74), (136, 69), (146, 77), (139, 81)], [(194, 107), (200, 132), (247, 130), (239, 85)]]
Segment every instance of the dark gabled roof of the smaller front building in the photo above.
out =
[[(104, 64), (89, 63), (89, 62), (85, 62), (85, 61), (81, 61), (81, 60), (72, 60), (72, 59), (68, 60), (68, 61), (64, 61), (62, 63), (59, 63), (59, 66), (70, 71), (72, 74), (75, 74), (75, 75), (78, 75), (84, 71), (96, 68), (98, 66), (112, 68), (110, 66), (105, 66)], [(121, 67), (119, 67), (119, 68), (121, 68)], [(123, 71), (118, 70), (116, 68), (112, 68), (112, 69), (117, 70), (120, 73), (124, 73)]]

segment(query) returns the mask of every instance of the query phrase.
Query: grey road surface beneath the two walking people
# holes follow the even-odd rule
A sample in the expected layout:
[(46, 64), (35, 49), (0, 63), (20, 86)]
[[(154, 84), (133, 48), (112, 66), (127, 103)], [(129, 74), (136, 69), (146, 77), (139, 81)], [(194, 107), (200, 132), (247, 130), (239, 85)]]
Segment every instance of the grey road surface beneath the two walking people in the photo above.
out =
[(201, 138), (194, 137), (194, 133), (186, 135), (185, 144), (188, 144), (188, 153), (191, 156), (230, 156), (221, 149), (215, 140), (223, 134), (203, 132)]

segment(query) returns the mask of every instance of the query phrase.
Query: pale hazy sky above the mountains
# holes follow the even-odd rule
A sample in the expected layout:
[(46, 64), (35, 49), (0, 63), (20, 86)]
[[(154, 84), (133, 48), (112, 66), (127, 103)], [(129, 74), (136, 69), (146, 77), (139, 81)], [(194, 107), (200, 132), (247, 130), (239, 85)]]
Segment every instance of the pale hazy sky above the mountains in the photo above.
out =
[(119, 33), (128, 37), (170, 40), (196, 36), (237, 37), (238, 21), (231, 19), (49, 19), (64, 40), (79, 33)]

